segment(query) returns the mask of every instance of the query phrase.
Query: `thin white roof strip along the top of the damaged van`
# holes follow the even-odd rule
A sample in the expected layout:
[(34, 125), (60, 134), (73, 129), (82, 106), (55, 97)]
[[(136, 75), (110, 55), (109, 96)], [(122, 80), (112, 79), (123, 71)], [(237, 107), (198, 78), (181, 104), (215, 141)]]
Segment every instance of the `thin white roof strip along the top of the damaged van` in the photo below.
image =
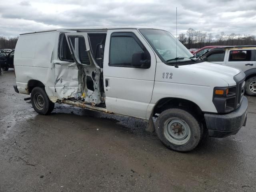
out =
[(94, 26), (94, 27), (72, 27), (72, 28), (57, 28), (57, 29), (50, 29), (50, 30), (42, 30), (42, 31), (34, 31), (34, 32), (27, 32), (22, 33), (24, 34), (31, 34), (31, 33), (39, 33), (39, 32), (50, 32), (50, 31), (57, 31), (57, 30), (108, 30), (108, 29), (157, 29), (152, 27), (145, 27), (145, 26)]

